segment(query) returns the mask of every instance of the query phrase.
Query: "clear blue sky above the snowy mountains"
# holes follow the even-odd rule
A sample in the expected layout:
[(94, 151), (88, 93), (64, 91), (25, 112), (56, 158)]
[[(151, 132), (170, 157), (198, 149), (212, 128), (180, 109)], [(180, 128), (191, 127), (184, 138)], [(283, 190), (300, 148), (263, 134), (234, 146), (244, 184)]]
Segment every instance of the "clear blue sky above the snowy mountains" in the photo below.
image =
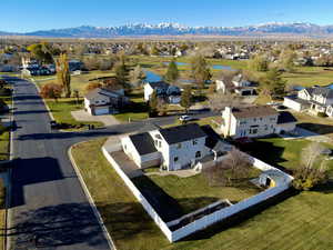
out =
[(333, 24), (332, 0), (8, 0), (1, 31), (36, 31), (125, 23), (246, 26), (265, 22)]

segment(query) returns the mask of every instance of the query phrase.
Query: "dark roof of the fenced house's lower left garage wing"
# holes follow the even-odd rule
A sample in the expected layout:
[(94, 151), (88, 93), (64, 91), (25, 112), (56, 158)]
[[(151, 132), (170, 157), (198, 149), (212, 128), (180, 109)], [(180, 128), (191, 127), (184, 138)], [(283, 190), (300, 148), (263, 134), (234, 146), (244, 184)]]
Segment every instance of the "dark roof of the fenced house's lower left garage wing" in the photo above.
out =
[(153, 139), (148, 132), (129, 136), (140, 156), (157, 152)]

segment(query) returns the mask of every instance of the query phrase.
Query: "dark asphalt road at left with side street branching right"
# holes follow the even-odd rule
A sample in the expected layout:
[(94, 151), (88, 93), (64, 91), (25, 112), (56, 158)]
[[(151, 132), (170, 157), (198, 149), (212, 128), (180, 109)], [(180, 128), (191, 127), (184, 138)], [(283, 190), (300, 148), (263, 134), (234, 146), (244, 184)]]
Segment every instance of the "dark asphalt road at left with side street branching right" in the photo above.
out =
[[(46, 249), (110, 249), (68, 158), (70, 146), (97, 137), (142, 130), (175, 117), (118, 124), (83, 132), (51, 131), (48, 111), (33, 83), (10, 79), (14, 87), (12, 249), (29, 249), (37, 237)], [(203, 118), (216, 113), (202, 112)]]

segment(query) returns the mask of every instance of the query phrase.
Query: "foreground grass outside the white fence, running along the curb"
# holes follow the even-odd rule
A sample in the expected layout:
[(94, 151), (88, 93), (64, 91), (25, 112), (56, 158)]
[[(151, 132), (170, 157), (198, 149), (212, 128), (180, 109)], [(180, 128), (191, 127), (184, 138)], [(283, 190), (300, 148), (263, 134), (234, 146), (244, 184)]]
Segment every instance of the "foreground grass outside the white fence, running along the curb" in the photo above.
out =
[[(280, 201), (263, 211), (254, 211), (253, 217), (248, 219), (221, 222), (171, 244), (103, 158), (100, 151), (104, 139), (98, 139), (79, 144), (73, 149), (73, 156), (120, 250), (333, 249), (332, 182), (316, 191)], [(289, 160), (294, 161), (291, 154), (284, 157), (286, 166)]]

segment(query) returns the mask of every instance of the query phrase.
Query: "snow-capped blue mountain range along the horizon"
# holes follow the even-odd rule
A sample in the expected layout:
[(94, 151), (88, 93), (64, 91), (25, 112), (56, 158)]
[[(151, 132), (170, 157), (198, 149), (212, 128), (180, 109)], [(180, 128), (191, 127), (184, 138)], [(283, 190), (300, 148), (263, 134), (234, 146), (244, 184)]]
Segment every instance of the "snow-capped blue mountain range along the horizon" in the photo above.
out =
[[(0, 36), (11, 33), (1, 32)], [(18, 33), (14, 33), (18, 34)], [(313, 23), (264, 23), (246, 27), (186, 27), (179, 23), (160, 24), (127, 24), (118, 27), (81, 26), (68, 29), (40, 30), (21, 33), (21, 36), (53, 37), (53, 38), (112, 38), (133, 36), (333, 36), (333, 26), (317, 26)]]

